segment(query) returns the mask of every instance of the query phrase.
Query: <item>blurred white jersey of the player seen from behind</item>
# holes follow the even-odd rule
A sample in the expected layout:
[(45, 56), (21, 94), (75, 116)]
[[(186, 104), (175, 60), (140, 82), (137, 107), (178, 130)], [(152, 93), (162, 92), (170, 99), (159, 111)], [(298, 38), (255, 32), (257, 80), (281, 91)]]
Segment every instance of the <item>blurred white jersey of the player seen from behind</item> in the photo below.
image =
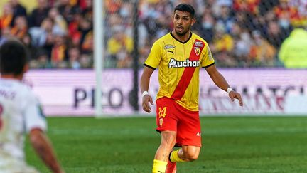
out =
[(24, 134), (33, 128), (47, 128), (38, 98), (19, 80), (0, 78), (0, 162), (24, 159)]

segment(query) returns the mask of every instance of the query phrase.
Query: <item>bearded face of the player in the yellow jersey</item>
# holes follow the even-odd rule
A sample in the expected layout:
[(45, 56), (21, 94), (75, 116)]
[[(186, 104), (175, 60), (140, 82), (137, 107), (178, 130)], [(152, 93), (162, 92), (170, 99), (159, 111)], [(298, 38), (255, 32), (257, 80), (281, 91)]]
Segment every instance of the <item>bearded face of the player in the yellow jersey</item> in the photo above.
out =
[(195, 23), (195, 18), (190, 16), (189, 12), (185, 11), (175, 11), (173, 16), (173, 25), (175, 32), (178, 36), (184, 36), (188, 31), (190, 31), (190, 27)]

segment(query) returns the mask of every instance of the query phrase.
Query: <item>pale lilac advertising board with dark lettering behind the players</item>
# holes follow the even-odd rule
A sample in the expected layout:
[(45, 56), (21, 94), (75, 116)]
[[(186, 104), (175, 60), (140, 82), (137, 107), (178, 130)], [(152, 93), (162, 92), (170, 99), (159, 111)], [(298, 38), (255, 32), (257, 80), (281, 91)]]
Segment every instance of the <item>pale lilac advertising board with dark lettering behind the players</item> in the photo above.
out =
[[(232, 88), (242, 93), (244, 107), (239, 107), (237, 102), (232, 103), (227, 93), (217, 88), (205, 70), (201, 70), (200, 115), (307, 115), (307, 70), (220, 69), (220, 73)], [(103, 71), (103, 114), (146, 114), (142, 110), (135, 112), (129, 103), (132, 79), (133, 73), (129, 69)], [(26, 83), (31, 85), (40, 98), (46, 115), (94, 115), (93, 70), (31, 70), (26, 74)], [(149, 89), (154, 99), (157, 91), (156, 70), (151, 77)]]

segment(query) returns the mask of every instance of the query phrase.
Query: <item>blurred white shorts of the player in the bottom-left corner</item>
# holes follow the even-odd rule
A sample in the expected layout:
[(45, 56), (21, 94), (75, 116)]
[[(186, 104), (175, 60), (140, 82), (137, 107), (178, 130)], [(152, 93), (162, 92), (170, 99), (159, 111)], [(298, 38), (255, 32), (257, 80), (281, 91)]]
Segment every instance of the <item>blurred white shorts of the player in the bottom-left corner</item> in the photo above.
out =
[(4, 157), (0, 154), (0, 173), (39, 173), (34, 167), (28, 166), (22, 159)]

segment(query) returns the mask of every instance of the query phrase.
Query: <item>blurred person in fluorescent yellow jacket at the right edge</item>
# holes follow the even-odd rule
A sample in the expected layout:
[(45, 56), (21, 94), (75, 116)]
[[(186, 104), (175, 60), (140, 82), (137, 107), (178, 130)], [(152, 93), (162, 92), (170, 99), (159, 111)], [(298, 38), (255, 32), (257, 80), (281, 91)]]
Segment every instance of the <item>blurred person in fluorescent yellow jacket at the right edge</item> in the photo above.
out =
[(286, 68), (307, 68), (307, 31), (294, 29), (282, 43), (279, 60)]

